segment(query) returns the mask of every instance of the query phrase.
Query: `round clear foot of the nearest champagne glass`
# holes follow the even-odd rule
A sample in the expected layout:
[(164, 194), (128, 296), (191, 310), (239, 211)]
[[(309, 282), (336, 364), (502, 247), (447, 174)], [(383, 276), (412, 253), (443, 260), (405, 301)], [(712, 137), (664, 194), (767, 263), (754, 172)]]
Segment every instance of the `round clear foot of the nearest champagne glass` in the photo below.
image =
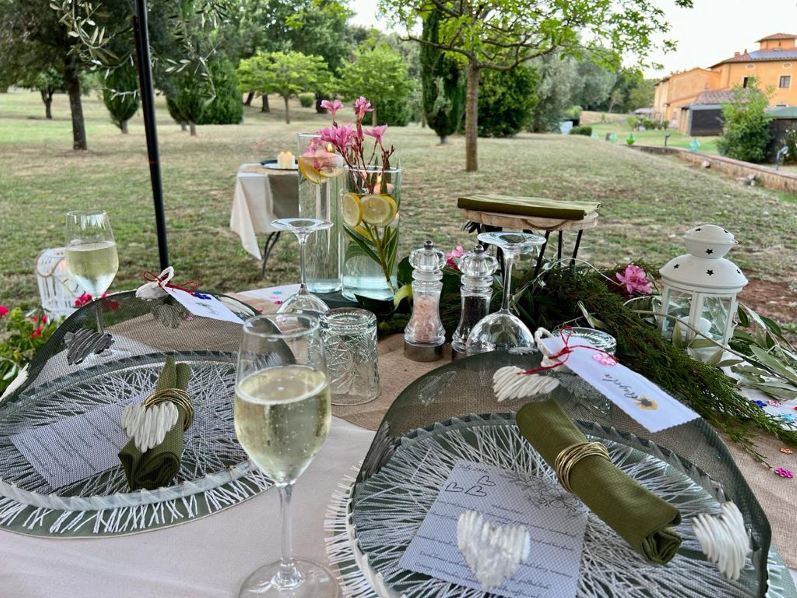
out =
[(265, 565), (246, 578), (239, 598), (339, 598), (340, 588), (332, 572), (314, 561), (294, 559), (299, 580), (279, 576), (281, 562)]

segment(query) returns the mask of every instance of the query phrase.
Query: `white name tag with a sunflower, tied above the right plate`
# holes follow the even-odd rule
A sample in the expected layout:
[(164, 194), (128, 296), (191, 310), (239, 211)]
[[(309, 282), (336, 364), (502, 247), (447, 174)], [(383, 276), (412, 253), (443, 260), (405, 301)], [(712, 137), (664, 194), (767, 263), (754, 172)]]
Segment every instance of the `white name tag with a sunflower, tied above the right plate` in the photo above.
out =
[[(543, 342), (554, 353), (564, 346), (559, 338), (546, 338)], [(581, 338), (571, 338), (570, 347), (574, 344), (590, 343)], [(602, 352), (590, 348), (573, 348), (566, 363), (568, 368), (649, 432), (659, 432), (700, 417), (646, 377), (609, 360)]]

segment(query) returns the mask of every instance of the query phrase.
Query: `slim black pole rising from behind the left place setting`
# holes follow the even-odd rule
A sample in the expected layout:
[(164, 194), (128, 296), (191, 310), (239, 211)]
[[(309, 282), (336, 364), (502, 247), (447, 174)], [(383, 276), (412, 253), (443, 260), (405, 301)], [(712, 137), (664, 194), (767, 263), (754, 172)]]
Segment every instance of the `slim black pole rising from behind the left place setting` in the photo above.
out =
[(135, 37), (135, 59), (139, 70), (141, 112), (144, 117), (144, 132), (147, 134), (147, 156), (152, 181), (152, 201), (155, 203), (155, 227), (158, 233), (158, 255), (160, 269), (169, 266), (169, 248), (166, 240), (166, 214), (163, 210), (163, 184), (160, 180), (160, 156), (158, 152), (158, 128), (155, 125), (155, 85), (152, 83), (152, 65), (147, 29), (147, 0), (135, 0), (133, 14)]

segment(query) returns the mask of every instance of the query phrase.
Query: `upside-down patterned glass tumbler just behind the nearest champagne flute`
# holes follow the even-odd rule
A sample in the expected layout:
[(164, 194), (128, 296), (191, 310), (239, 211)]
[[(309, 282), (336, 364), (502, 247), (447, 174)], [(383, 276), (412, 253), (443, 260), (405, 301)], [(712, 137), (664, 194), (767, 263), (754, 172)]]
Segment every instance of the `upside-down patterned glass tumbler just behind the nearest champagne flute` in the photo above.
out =
[(367, 309), (340, 307), (321, 314), (333, 405), (359, 405), (379, 395), (376, 317)]

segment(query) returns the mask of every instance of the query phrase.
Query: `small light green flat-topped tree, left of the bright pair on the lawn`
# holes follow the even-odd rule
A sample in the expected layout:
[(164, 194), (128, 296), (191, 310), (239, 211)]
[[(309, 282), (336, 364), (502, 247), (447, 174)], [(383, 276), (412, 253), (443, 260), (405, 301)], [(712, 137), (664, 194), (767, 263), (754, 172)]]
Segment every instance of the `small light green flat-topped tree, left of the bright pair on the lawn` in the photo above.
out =
[(238, 80), (241, 89), (281, 96), (285, 100), (285, 122), (290, 124), (288, 100), (301, 92), (328, 88), (331, 74), (319, 56), (306, 56), (300, 52), (261, 52), (241, 61)]

